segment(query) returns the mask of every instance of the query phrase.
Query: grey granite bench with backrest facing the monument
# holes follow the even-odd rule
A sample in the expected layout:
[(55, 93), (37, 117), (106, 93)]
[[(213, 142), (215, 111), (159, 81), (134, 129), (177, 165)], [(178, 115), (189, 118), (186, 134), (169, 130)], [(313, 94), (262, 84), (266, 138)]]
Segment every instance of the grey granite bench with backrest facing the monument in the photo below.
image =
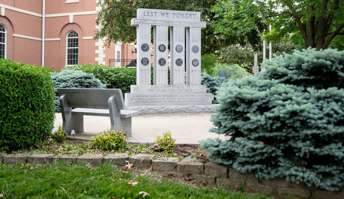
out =
[[(111, 130), (131, 137), (131, 117), (139, 111), (125, 110), (122, 91), (104, 88), (57, 88), (60, 96), (62, 129), (70, 135), (84, 132), (84, 115), (110, 117)], [(73, 109), (72, 109), (73, 107)]]

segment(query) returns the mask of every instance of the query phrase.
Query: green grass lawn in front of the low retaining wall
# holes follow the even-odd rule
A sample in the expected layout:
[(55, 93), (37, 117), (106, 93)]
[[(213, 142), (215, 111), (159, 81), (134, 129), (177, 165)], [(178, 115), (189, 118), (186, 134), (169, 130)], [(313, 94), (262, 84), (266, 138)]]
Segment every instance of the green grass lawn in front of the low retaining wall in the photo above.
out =
[[(128, 181), (137, 181), (129, 185)], [(172, 180), (156, 180), (147, 175), (137, 176), (116, 166), (68, 166), (0, 164), (0, 198), (269, 198), (264, 195), (233, 192), (212, 187), (195, 187)]]

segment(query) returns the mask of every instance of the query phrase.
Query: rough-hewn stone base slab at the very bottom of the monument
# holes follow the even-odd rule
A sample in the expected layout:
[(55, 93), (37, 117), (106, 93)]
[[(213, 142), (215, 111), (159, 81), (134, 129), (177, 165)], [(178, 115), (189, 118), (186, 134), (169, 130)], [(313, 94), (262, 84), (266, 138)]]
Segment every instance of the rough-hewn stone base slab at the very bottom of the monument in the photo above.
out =
[(126, 106), (126, 110), (140, 111), (140, 114), (178, 114), (178, 113), (214, 113), (214, 107), (218, 104), (210, 105), (139, 105)]

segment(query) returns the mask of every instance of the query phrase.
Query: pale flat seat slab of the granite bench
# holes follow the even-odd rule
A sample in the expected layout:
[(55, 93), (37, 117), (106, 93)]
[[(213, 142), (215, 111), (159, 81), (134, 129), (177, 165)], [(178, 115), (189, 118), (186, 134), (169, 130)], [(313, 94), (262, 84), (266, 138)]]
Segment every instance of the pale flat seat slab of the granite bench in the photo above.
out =
[[(130, 110), (120, 110), (121, 118), (128, 118), (131, 116), (136, 116), (139, 111)], [(110, 117), (109, 109), (99, 109), (99, 108), (75, 108), (72, 109), (72, 115), (92, 115), (92, 116), (105, 116)]]

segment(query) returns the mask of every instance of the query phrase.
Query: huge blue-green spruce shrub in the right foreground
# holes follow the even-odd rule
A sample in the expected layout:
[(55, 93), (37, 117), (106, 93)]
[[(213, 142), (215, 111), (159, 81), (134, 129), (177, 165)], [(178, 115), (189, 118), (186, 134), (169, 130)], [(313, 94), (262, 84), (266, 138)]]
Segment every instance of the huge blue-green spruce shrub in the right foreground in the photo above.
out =
[(258, 77), (228, 81), (201, 146), (215, 163), (260, 178), (284, 177), (326, 190), (344, 185), (344, 52), (277, 56)]

